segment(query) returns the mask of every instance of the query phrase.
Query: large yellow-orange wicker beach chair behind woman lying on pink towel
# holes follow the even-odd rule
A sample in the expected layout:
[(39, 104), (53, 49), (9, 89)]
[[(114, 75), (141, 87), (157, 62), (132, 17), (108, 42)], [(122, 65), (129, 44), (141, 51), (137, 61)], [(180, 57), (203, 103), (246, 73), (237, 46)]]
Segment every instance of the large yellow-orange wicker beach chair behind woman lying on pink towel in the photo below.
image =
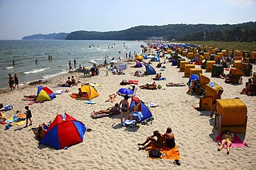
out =
[(240, 99), (218, 99), (215, 127), (219, 132), (246, 133), (247, 107)]

